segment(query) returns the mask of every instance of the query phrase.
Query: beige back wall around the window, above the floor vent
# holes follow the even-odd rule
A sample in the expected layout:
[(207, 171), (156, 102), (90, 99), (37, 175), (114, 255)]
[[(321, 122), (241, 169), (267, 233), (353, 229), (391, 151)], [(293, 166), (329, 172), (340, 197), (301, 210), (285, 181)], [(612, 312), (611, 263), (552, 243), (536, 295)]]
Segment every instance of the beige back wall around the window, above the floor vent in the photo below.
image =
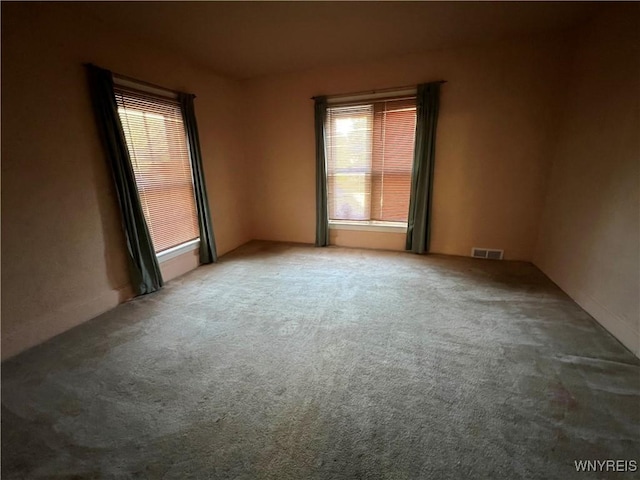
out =
[[(432, 251), (469, 255), (474, 246), (489, 247), (504, 249), (508, 259), (531, 260), (565, 55), (560, 39), (522, 39), (245, 82), (247, 156), (258, 172), (255, 236), (315, 239), (310, 97), (445, 79)], [(398, 234), (381, 235), (340, 231), (332, 239), (348, 246), (404, 248)]]

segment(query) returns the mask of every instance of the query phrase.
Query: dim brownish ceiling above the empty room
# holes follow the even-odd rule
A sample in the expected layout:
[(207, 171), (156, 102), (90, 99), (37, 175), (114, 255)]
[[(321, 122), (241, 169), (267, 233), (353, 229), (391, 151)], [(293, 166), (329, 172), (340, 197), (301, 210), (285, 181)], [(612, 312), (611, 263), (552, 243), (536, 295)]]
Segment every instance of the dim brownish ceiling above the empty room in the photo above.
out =
[(595, 2), (82, 2), (74, 8), (233, 78), (571, 28)]

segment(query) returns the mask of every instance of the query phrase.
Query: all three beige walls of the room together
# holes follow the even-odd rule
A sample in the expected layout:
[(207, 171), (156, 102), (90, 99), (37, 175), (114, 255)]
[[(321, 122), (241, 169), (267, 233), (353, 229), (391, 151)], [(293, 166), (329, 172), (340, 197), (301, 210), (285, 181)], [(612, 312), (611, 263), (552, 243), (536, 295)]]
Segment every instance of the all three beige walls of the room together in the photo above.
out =
[[(252, 238), (314, 241), (311, 96), (446, 79), (432, 250), (535, 259), (638, 353), (637, 5), (619, 9), (581, 31), (571, 72), (558, 36), (235, 82), (73, 5), (3, 3), (2, 357), (131, 295), (83, 62), (196, 93), (221, 254)], [(404, 246), (398, 233), (331, 240)], [(162, 270), (196, 263), (187, 254)]]

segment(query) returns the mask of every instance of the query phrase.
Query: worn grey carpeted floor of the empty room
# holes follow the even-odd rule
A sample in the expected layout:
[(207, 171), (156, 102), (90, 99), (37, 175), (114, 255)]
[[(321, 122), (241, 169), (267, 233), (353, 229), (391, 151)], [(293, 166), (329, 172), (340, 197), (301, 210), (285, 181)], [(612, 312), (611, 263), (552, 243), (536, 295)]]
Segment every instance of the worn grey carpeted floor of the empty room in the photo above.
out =
[(638, 478), (581, 459), (640, 361), (527, 263), (253, 242), (2, 365), (5, 479)]

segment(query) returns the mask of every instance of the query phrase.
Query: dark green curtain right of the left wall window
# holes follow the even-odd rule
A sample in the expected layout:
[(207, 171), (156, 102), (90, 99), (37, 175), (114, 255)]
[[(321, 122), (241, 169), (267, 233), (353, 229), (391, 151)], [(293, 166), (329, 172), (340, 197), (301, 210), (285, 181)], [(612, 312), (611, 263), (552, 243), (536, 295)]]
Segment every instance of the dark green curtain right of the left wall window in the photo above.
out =
[(200, 152), (200, 137), (196, 124), (196, 112), (193, 106), (195, 95), (179, 93), (178, 100), (182, 107), (184, 128), (189, 142), (189, 154), (191, 156), (191, 170), (193, 172), (193, 190), (196, 197), (196, 210), (198, 213), (198, 227), (200, 229), (200, 263), (214, 263), (218, 261), (216, 241), (213, 235), (213, 223), (209, 210), (209, 198), (204, 181), (202, 169), (202, 154)]

